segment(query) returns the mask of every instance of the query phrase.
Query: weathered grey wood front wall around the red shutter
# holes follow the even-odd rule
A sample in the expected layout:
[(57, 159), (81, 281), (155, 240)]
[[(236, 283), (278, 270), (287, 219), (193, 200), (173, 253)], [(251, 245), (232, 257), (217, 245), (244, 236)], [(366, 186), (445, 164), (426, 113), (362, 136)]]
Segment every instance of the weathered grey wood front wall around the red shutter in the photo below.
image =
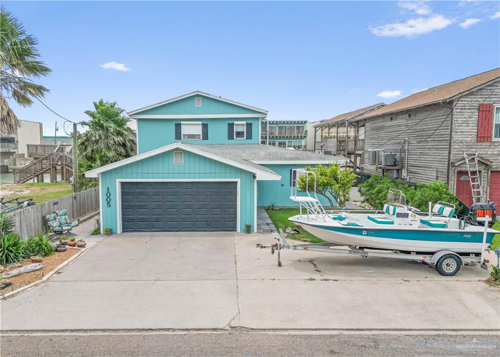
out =
[(490, 167), (483, 164), (479, 166), (483, 169), (482, 185), (483, 200), (487, 199), (487, 189), (489, 186), (491, 171), (500, 171), (500, 141), (477, 141), (477, 123), (479, 119), (479, 105), (482, 103), (500, 104), (500, 81), (477, 89), (463, 95), (453, 109), (453, 133), (451, 143), (451, 169), (449, 185), (452, 192), (455, 192), (456, 172), (465, 171), (464, 163), (453, 165), (454, 162), (463, 159), (463, 152), (477, 154), (492, 161)]

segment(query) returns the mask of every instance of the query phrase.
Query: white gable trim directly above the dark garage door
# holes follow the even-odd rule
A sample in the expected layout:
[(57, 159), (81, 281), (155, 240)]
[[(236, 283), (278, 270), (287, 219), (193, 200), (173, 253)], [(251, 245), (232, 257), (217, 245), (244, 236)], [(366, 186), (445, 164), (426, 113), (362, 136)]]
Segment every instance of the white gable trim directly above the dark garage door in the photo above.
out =
[(197, 146), (198, 145), (196, 145), (196, 144), (189, 145), (189, 144), (184, 144), (184, 143), (180, 143), (180, 142), (174, 142), (174, 143), (159, 147), (157, 149), (146, 151), (142, 154), (134, 155), (132, 157), (129, 157), (129, 158), (126, 158), (126, 159), (123, 159), (120, 161), (116, 161), (116, 162), (113, 162), (111, 164), (107, 164), (107, 165), (97, 167), (97, 168), (92, 169), (92, 170), (85, 171), (85, 176), (86, 177), (97, 177), (98, 174), (100, 174), (101, 172), (104, 172), (104, 171), (112, 170), (112, 169), (115, 169), (117, 167), (127, 165), (127, 164), (130, 164), (132, 162), (139, 161), (139, 160), (148, 158), (150, 156), (158, 155), (158, 154), (161, 154), (161, 153), (164, 153), (166, 151), (173, 150), (173, 149), (182, 149), (182, 150), (190, 151), (194, 154), (208, 157), (210, 159), (222, 162), (224, 164), (228, 164), (228, 165), (231, 165), (231, 166), (234, 166), (234, 167), (237, 167), (237, 168), (249, 171), (249, 172), (253, 172), (256, 175), (257, 180), (280, 180), (281, 179), (280, 175), (276, 174), (272, 170), (269, 170), (267, 167), (256, 165), (256, 164), (253, 164), (251, 162), (244, 162), (241, 159), (238, 159), (237, 157), (235, 158), (234, 155), (231, 158), (220, 156), (220, 155), (217, 155), (214, 153), (210, 153), (206, 150), (200, 150), (200, 148), (198, 148)]

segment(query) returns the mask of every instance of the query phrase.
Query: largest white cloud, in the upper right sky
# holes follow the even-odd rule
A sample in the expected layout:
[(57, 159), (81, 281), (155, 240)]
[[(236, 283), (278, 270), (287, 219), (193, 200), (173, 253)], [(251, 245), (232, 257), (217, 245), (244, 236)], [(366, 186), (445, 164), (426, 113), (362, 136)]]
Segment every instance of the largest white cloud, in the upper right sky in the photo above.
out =
[(414, 37), (424, 33), (443, 29), (453, 23), (453, 20), (443, 15), (418, 17), (405, 22), (393, 22), (380, 26), (370, 27), (370, 31), (377, 36), (384, 37)]

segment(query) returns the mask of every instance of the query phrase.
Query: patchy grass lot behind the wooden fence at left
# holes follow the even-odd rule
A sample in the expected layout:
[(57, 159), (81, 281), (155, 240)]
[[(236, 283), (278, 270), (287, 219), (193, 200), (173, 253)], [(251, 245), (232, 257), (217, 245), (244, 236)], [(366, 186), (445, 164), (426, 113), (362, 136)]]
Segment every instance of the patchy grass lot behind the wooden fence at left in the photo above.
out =
[(2, 190), (9, 191), (4, 200), (19, 197), (19, 200), (32, 198), (36, 203), (50, 201), (72, 193), (70, 183), (40, 182), (2, 185)]

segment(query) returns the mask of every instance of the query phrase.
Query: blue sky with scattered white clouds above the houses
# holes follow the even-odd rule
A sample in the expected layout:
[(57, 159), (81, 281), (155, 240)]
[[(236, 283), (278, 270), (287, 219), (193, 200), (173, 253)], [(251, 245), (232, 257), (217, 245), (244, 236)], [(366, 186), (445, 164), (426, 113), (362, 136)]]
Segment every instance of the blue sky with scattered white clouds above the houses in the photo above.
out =
[[(52, 69), (44, 102), (73, 121), (99, 98), (130, 111), (193, 90), (314, 121), (500, 66), (498, 2), (4, 4)], [(61, 121), (11, 105), (46, 134)]]

